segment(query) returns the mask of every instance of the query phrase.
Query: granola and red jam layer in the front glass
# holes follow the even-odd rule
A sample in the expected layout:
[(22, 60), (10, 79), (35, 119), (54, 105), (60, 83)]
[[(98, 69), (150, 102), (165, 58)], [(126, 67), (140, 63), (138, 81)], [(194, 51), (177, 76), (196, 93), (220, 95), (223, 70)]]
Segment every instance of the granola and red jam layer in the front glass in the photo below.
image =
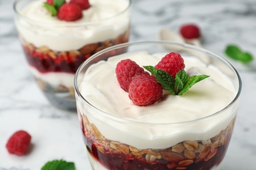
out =
[(226, 128), (207, 140), (184, 140), (168, 148), (140, 149), (106, 139), (85, 114), (79, 112), (79, 116), (87, 150), (107, 169), (211, 169), (223, 160), (235, 121), (232, 119)]

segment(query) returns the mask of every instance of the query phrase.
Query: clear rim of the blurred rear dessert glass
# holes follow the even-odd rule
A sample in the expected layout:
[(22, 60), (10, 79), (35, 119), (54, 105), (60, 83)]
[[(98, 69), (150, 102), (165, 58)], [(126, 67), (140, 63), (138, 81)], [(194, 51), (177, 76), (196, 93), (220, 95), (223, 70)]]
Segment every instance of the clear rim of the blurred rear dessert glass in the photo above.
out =
[[(20, 13), (20, 11), (16, 8), (17, 7), (17, 4), (20, 2), (20, 1), (24, 1), (24, 0), (15, 0), (14, 3), (13, 3), (13, 10), (15, 12), (15, 14), (20, 17), (20, 18), (24, 18), (25, 20), (28, 20), (30, 22), (35, 22), (35, 23), (39, 23), (41, 25), (47, 25), (49, 24), (49, 22), (39, 22), (37, 20), (33, 20), (27, 16), (24, 16), (23, 14)], [(36, 1), (36, 0), (33, 0), (33, 1)], [(112, 20), (113, 18), (116, 18), (117, 16), (120, 16), (121, 14), (125, 13), (127, 10), (130, 9), (131, 7), (131, 0), (126, 0), (128, 1), (128, 5), (127, 7), (125, 7), (125, 9), (121, 10), (121, 12), (118, 12), (117, 14), (115, 14), (114, 16), (111, 16), (109, 18), (104, 18), (103, 20), (97, 20), (97, 21), (93, 21), (93, 22), (81, 22), (81, 23), (74, 23), (74, 22), (68, 22), (69, 24), (67, 23), (58, 23), (58, 24), (54, 24), (53, 26), (54, 27), (81, 27), (81, 26), (85, 26), (85, 25), (95, 25), (95, 24), (99, 24), (100, 22), (108, 22), (108, 20)], [(52, 24), (52, 23), (51, 23)]]

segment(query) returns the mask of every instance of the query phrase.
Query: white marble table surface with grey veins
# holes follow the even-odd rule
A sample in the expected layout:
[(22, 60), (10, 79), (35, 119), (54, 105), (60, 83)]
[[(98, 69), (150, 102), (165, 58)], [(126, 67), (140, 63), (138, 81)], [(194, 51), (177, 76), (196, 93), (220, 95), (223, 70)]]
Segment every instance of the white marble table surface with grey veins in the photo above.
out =
[[(0, 0), (0, 170), (40, 169), (55, 159), (91, 169), (75, 112), (54, 108), (30, 75), (13, 22), (14, 0)], [(156, 40), (158, 30), (178, 31), (182, 24), (202, 29), (204, 48), (223, 57), (227, 44), (237, 44), (256, 57), (255, 0), (133, 0), (131, 41)], [(231, 61), (243, 90), (236, 126), (222, 169), (256, 169), (256, 66)], [(10, 135), (24, 129), (32, 135), (26, 156), (8, 154)]]

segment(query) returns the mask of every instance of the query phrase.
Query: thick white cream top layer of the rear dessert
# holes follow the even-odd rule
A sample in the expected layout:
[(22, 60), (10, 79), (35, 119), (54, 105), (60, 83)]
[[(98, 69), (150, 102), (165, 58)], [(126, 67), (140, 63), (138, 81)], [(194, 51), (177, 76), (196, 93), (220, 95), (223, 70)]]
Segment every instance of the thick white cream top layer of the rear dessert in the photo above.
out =
[(51, 50), (77, 50), (86, 44), (114, 39), (129, 29), (128, 0), (90, 0), (83, 18), (58, 20), (43, 7), (45, 0), (32, 1), (16, 19), (18, 32), (33, 45)]

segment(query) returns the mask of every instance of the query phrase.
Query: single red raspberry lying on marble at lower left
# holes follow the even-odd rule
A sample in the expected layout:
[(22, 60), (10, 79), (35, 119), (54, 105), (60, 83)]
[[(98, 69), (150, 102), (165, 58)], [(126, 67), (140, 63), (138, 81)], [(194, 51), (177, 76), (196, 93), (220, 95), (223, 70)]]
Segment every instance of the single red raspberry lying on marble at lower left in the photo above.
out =
[(26, 154), (30, 146), (31, 136), (26, 131), (16, 131), (8, 140), (6, 147), (10, 154), (18, 156)]

